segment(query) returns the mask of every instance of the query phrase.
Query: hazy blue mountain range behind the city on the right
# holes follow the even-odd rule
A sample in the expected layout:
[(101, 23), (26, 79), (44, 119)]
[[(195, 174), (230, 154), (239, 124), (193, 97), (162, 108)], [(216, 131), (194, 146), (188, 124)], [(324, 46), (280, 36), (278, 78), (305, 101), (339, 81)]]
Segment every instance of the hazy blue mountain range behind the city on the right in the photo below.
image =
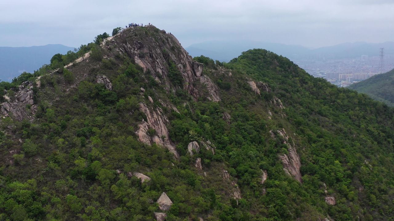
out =
[(193, 57), (204, 55), (214, 60), (230, 61), (250, 48), (262, 48), (291, 60), (302, 59), (353, 59), (361, 55), (378, 56), (379, 48), (394, 51), (394, 42), (383, 43), (343, 43), (334, 46), (311, 49), (301, 45), (288, 45), (259, 41), (206, 41), (192, 44), (186, 48)]

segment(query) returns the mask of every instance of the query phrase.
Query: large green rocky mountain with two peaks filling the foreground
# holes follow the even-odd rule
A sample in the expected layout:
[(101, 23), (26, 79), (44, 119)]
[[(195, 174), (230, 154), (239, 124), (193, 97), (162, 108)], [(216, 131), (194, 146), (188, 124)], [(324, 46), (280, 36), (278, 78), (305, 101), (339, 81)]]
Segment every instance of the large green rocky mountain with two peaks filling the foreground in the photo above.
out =
[(133, 27), (25, 76), (0, 105), (1, 219), (394, 215), (393, 109), (272, 52), (220, 66)]

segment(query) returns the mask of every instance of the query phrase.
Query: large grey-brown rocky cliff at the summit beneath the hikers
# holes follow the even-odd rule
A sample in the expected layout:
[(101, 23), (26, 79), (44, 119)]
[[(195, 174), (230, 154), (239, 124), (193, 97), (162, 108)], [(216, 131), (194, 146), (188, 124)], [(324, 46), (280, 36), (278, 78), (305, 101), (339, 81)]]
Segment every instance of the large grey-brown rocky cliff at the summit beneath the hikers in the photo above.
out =
[[(182, 87), (193, 97), (198, 98), (202, 91), (198, 91), (194, 82), (200, 81), (208, 88), (208, 99), (220, 101), (218, 89), (212, 80), (203, 74), (203, 64), (193, 61), (192, 57), (182, 48), (179, 41), (165, 31), (158, 31), (154, 26), (145, 27), (147, 31), (155, 33), (155, 38), (139, 37), (135, 32), (138, 28), (127, 28), (113, 38), (108, 38), (103, 48), (108, 48), (113, 56), (122, 53), (130, 57), (145, 72), (149, 70), (153, 79), (164, 86), (168, 92), (175, 92), (168, 77), (169, 62), (175, 64), (182, 76)], [(111, 48), (111, 50), (109, 50)], [(165, 52), (165, 53), (163, 53)]]

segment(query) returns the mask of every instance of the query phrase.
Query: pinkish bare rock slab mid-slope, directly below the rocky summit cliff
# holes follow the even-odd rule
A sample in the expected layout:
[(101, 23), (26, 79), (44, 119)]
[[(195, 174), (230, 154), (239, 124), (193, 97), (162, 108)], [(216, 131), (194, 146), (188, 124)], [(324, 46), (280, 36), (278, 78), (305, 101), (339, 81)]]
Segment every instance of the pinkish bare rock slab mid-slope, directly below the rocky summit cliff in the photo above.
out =
[[(169, 123), (169, 120), (163, 113), (163, 110), (160, 107), (156, 107), (156, 110), (154, 110), (153, 108), (149, 108), (145, 103), (140, 103), (139, 109), (147, 116), (147, 121), (140, 123), (136, 131), (139, 141), (147, 145), (156, 143), (157, 145), (163, 146), (178, 159), (179, 154), (175, 148), (175, 144), (169, 140), (168, 129), (165, 126), (166, 123)], [(156, 134), (148, 134), (149, 128), (154, 129)]]

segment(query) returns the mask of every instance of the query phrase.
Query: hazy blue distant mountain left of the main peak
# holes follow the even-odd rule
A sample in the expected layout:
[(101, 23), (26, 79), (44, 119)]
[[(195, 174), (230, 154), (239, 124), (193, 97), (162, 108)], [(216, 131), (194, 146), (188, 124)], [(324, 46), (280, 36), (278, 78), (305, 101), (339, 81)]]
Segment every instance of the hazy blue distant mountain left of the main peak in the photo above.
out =
[(3, 81), (17, 77), (20, 73), (33, 72), (43, 64), (49, 64), (56, 53), (65, 54), (72, 47), (62, 44), (47, 44), (32, 47), (0, 47), (0, 78)]

